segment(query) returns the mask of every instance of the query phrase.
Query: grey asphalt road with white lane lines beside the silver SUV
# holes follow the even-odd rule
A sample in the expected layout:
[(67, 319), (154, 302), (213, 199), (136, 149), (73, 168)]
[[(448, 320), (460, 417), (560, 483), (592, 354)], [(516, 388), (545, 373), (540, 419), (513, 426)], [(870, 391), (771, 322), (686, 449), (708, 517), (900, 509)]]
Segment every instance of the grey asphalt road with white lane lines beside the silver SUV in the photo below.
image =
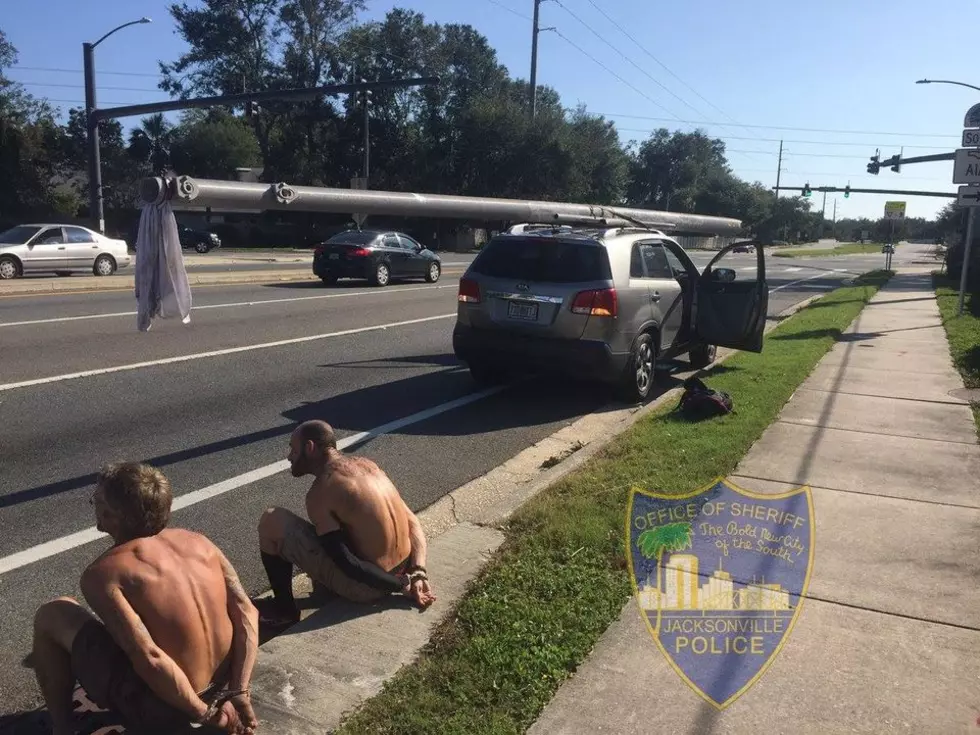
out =
[[(693, 257), (704, 266), (711, 254)], [(726, 260), (754, 277), (754, 256)], [(882, 263), (768, 258), (770, 313)], [(259, 593), (259, 515), (302, 512), (309, 485), (276, 466), (296, 422), (324, 418), (344, 438), (376, 430), (350, 449), (420, 510), (608, 404), (601, 391), (540, 381), (476, 394), (452, 354), (457, 280), (198, 287), (189, 325), (161, 320), (143, 334), (128, 293), (0, 299), (0, 715), (40, 703), (21, 665), (34, 610), (78, 596), (81, 571), (108, 546), (70, 537), (92, 527), (102, 463), (163, 469), (186, 503), (173, 523), (207, 533)]]

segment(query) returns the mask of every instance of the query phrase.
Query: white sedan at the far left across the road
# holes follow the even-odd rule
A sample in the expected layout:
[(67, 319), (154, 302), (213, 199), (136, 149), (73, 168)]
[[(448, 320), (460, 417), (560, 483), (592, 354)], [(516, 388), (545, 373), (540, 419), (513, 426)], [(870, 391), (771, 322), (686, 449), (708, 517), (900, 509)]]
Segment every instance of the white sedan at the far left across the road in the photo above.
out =
[(111, 276), (132, 262), (124, 240), (78, 225), (17, 225), (0, 233), (0, 279), (74, 271)]

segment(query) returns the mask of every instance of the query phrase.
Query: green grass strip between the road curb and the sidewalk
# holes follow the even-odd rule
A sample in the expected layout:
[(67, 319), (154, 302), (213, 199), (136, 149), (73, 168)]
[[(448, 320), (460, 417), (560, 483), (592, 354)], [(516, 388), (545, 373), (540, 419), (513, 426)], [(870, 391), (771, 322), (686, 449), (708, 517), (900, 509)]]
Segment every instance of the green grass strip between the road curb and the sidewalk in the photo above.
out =
[(734, 414), (691, 423), (669, 413), (675, 399), (525, 504), (419, 660), (339, 732), (525, 731), (632, 594), (630, 487), (679, 494), (729, 474), (889, 276), (828, 294), (774, 329), (763, 354), (739, 353), (710, 371), (706, 381), (731, 393)]

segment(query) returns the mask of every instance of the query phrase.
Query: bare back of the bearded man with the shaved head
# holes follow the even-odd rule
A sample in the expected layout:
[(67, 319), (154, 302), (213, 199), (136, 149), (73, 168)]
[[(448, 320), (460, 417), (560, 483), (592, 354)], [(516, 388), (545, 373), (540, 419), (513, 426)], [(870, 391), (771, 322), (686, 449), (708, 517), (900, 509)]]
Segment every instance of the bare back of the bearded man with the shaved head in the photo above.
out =
[(382, 569), (394, 569), (412, 550), (405, 501), (365, 457), (332, 454), (306, 495), (306, 511), (318, 535), (343, 529), (354, 553)]

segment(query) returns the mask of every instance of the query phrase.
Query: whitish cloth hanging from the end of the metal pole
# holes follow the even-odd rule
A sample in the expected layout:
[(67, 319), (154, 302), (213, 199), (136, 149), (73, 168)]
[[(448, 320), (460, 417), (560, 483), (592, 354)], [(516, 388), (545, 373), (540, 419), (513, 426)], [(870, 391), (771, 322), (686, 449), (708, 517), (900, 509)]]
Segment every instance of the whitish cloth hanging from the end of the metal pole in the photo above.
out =
[(136, 238), (136, 326), (150, 329), (153, 319), (179, 316), (191, 321), (191, 287), (184, 269), (177, 219), (166, 192), (143, 205)]

